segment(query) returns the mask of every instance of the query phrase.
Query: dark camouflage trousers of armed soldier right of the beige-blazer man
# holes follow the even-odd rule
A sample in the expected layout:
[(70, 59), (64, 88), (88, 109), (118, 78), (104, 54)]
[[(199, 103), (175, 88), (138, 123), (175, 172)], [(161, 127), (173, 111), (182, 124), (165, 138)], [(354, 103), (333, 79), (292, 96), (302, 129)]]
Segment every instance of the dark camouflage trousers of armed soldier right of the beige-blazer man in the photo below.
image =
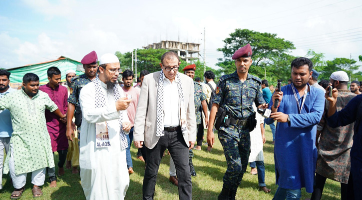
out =
[(250, 154), (250, 134), (249, 130), (230, 125), (228, 129), (232, 133), (223, 130), (218, 131), (219, 140), (224, 149), (228, 168), (223, 181), (230, 189), (237, 189), (248, 166)]

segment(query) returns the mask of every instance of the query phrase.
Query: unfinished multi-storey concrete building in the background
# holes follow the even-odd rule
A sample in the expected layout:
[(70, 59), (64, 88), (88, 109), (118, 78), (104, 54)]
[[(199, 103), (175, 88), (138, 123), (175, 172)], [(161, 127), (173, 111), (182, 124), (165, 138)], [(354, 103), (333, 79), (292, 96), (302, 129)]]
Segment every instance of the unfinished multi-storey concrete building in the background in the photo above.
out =
[(166, 49), (176, 52), (180, 59), (189, 62), (192, 59), (199, 59), (200, 44), (199, 43), (189, 43), (189, 42), (180, 42), (180, 41), (165, 41), (162, 40), (158, 43), (148, 44), (147, 46), (142, 46), (144, 49)]

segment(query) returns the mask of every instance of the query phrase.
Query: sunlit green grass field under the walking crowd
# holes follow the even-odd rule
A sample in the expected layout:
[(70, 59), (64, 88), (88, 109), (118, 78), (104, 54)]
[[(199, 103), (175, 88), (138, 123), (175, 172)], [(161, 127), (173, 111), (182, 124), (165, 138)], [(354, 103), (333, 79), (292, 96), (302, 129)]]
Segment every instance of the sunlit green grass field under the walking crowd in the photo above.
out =
[[(274, 192), (277, 189), (275, 184), (275, 168), (274, 168), (274, 145), (272, 142), (272, 133), (269, 126), (266, 126), (267, 142), (264, 144), (264, 162), (265, 162), (265, 182), (267, 187), (271, 188), (271, 193), (264, 193), (259, 190), (257, 175), (250, 174), (250, 167), (244, 174), (243, 181), (239, 186), (236, 199), (272, 199)], [(215, 148), (211, 152), (206, 151), (206, 146), (203, 150), (194, 151), (195, 155), (193, 163), (197, 172), (196, 177), (192, 177), (192, 198), (193, 199), (217, 199), (223, 185), (223, 175), (226, 170), (226, 161), (222, 146), (215, 134)], [(135, 173), (130, 175), (130, 185), (127, 190), (125, 199), (142, 199), (142, 181), (144, 174), (144, 163), (136, 158), (137, 149), (132, 144), (131, 147), (133, 169)], [(157, 177), (155, 199), (178, 199), (178, 188), (169, 182), (169, 158), (165, 155), (161, 160), (160, 169)], [(57, 162), (57, 155), (55, 156)], [(56, 165), (56, 164), (55, 164)], [(57, 170), (57, 169), (56, 169)], [(32, 184), (31, 175), (27, 176), (25, 191), (20, 199), (33, 199), (31, 194)], [(0, 190), (0, 199), (10, 199), (10, 194), (13, 187), (10, 185), (9, 175), (3, 175), (2, 185)], [(65, 169), (65, 174), (58, 177), (57, 187), (50, 188), (49, 180), (46, 176), (45, 184), (42, 186), (43, 196), (36, 199), (85, 199), (82, 187), (80, 185), (79, 174), (71, 174), (71, 169)], [(322, 199), (337, 200), (341, 195), (340, 183), (327, 179)], [(302, 198), (309, 198), (310, 193), (302, 189)]]

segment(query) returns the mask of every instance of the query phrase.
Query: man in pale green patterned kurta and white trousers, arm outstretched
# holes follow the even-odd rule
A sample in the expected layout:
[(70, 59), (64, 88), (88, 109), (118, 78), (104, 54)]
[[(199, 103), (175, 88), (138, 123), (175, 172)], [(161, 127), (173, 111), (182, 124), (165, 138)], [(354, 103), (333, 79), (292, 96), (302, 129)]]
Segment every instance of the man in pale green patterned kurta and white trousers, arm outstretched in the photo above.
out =
[(45, 109), (59, 116), (63, 115), (49, 95), (39, 91), (39, 77), (26, 73), (22, 89), (1, 98), (0, 110), (8, 109), (11, 114), (13, 133), (10, 138), (10, 155), (6, 156), (3, 172), (10, 171), (14, 191), (11, 198), (18, 198), (24, 191), (27, 172), (32, 172), (33, 196), (42, 195), (40, 185), (44, 184), (45, 168), (54, 167), (50, 136), (46, 128)]

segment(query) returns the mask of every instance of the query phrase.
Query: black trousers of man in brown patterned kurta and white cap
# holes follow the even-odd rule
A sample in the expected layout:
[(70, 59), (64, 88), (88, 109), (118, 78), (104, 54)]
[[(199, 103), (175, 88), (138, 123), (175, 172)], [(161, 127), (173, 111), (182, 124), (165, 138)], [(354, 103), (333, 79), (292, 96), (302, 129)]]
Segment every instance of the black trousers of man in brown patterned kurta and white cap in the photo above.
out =
[[(314, 185), (313, 193), (311, 200), (320, 200), (322, 197), (324, 185), (326, 184), (327, 177), (324, 177), (323, 175), (316, 173), (315, 181), (316, 185)], [(351, 199), (348, 197), (347, 193), (347, 184), (341, 182), (341, 199), (347, 200)]]

